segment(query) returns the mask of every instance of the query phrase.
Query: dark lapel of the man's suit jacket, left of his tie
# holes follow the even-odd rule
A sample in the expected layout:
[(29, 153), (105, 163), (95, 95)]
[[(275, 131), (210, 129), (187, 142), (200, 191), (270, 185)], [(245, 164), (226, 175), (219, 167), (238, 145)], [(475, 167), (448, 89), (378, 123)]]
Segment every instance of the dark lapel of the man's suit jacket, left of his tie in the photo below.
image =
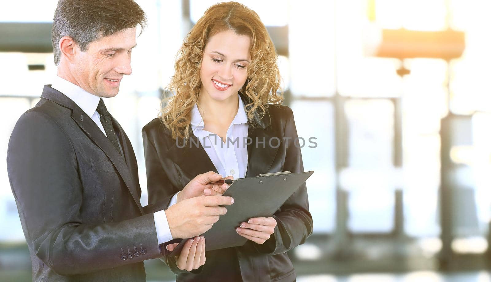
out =
[[(61, 94), (61, 95), (60, 95)], [(108, 156), (109, 160), (112, 162), (117, 172), (125, 182), (128, 190), (130, 191), (136, 205), (143, 214), (143, 208), (141, 207), (135, 182), (132, 180), (132, 174), (126, 165), (124, 158), (119, 154), (119, 152), (114, 148), (114, 146), (109, 142), (108, 137), (102, 133), (101, 129), (97, 127), (91, 117), (87, 116), (85, 112), (72, 100), (70, 100), (61, 92), (45, 85), (43, 94), (41, 98), (51, 100), (59, 105), (68, 107), (72, 109), (72, 119), (77, 123), (77, 125), (85, 132), (85, 134)], [(114, 119), (113, 119), (114, 120)], [(118, 124), (119, 126), (119, 124)], [(118, 128), (120, 129), (120, 128)], [(122, 138), (125, 139), (125, 138)], [(128, 148), (128, 146), (124, 146)], [(126, 153), (126, 152), (125, 152)]]

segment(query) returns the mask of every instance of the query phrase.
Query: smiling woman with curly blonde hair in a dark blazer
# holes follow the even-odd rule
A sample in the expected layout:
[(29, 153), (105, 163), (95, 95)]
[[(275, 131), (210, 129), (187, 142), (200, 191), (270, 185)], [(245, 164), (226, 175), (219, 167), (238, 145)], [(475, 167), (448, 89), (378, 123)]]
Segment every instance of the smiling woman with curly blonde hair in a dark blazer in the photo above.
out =
[[(191, 197), (176, 193), (210, 170), (234, 179), (303, 171), (293, 113), (279, 105), (277, 55), (254, 11), (236, 2), (210, 7), (179, 54), (169, 84), (175, 95), (142, 130), (149, 204)], [(246, 244), (206, 252), (198, 269), (165, 262), (177, 281), (295, 281), (286, 251), (312, 232), (305, 184), (272, 217), (236, 231)]]

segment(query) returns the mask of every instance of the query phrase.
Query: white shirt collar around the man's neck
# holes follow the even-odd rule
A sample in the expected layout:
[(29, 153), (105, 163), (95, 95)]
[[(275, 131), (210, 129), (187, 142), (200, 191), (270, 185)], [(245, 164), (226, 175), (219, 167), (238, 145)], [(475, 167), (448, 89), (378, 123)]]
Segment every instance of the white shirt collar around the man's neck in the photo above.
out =
[(53, 79), (52, 88), (55, 88), (59, 92), (63, 93), (66, 97), (70, 98), (76, 103), (89, 117), (93, 116), (97, 105), (99, 105), (100, 97), (88, 93), (80, 86), (73, 84), (72, 82), (65, 80), (61, 77), (55, 76)]

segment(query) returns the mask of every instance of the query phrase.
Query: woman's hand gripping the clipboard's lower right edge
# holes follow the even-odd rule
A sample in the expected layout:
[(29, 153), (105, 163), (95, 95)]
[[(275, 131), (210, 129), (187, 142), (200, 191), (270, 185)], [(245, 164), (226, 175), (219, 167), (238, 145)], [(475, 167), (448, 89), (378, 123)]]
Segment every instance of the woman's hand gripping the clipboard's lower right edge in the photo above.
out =
[(275, 227), (276, 220), (273, 217), (254, 217), (241, 223), (235, 231), (244, 238), (263, 244), (274, 233)]

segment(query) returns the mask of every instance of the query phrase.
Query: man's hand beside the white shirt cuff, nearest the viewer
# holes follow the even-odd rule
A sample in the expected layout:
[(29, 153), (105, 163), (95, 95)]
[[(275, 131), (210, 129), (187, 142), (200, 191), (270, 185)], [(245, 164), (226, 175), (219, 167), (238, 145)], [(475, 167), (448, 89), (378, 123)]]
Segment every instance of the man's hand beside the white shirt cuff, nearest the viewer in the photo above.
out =
[(172, 238), (199, 236), (212, 228), (220, 215), (227, 212), (224, 206), (234, 199), (225, 196), (194, 197), (183, 200), (165, 210)]

